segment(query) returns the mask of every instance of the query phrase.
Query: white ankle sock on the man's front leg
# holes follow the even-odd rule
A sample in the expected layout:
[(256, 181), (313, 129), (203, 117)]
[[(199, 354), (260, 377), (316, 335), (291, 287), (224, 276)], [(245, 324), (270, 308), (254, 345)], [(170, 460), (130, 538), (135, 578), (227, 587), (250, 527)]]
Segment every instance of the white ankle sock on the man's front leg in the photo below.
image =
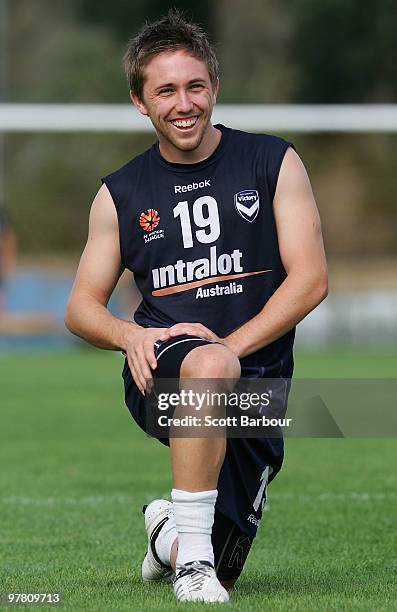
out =
[(211, 533), (218, 491), (181, 491), (172, 489), (178, 555), (176, 567), (191, 561), (209, 561), (214, 565)]

